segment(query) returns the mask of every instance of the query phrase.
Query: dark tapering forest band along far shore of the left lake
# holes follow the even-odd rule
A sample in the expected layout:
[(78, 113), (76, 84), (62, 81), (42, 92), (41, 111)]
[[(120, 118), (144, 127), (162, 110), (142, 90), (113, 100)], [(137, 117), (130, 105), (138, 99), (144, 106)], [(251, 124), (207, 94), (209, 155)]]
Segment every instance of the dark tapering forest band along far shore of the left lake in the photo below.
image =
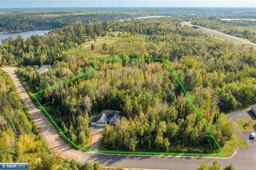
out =
[(0, 18), (0, 32), (13, 32), (20, 30), (32, 30), (39, 28), (61, 28), (71, 23), (118, 21), (126, 18), (134, 18), (139, 15), (105, 13), (105, 14), (78, 14), (78, 15), (4, 15)]

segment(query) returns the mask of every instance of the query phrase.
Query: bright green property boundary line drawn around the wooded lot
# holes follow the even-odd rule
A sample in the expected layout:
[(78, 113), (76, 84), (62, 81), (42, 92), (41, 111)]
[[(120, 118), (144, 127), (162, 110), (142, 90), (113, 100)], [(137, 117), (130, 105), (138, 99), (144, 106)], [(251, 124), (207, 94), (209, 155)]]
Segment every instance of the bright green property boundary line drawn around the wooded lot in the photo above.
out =
[[(86, 149), (83, 148), (81, 146), (78, 146), (77, 144), (75, 144), (74, 142), (72, 142), (64, 133), (63, 131), (60, 129), (60, 127), (58, 127), (58, 125), (55, 123), (55, 121), (52, 119), (52, 117), (49, 115), (49, 113), (46, 111), (46, 109), (44, 109), (44, 107), (42, 106), (42, 104), (38, 101), (38, 99), (36, 98), (36, 95), (38, 95), (39, 93), (42, 93), (46, 90), (52, 89), (54, 87), (57, 87), (59, 85), (62, 85), (64, 83), (68, 83), (74, 79), (78, 79), (84, 75), (88, 75), (90, 73), (92, 73), (92, 71), (94, 71), (97, 68), (97, 62), (98, 61), (110, 61), (110, 60), (164, 60), (166, 61), (166, 63), (168, 64), (168, 66), (170, 67), (170, 70), (172, 71), (174, 77), (177, 79), (178, 83), (180, 84), (180, 86), (182, 87), (184, 93), (186, 94), (186, 96), (188, 97), (188, 100), (190, 101), (190, 103), (192, 104), (192, 106), (194, 107), (196, 113), (198, 114), (198, 116), (200, 117), (200, 119), (202, 120), (202, 122), (204, 123), (206, 129), (208, 130), (208, 132), (210, 133), (210, 135), (212, 136), (214, 142), (217, 144), (221, 154), (204, 154), (204, 153), (175, 153), (175, 152), (129, 152), (129, 151), (106, 151), (106, 150), (90, 150), (90, 149)], [(206, 125), (206, 122), (204, 121), (204, 119), (202, 118), (201, 114), (199, 113), (198, 109), (196, 108), (196, 106), (194, 105), (192, 99), (190, 98), (190, 96), (188, 95), (188, 93), (186, 92), (186, 90), (184, 89), (182, 83), (180, 82), (179, 78), (177, 77), (176, 73), (174, 72), (174, 70), (172, 69), (172, 66), (170, 65), (169, 61), (165, 58), (132, 58), (132, 59), (124, 59), (124, 58), (117, 58), (117, 59), (112, 59), (112, 58), (101, 58), (101, 59), (95, 59), (95, 66), (88, 72), (79, 75), (77, 77), (74, 77), (72, 79), (69, 79), (67, 81), (64, 81), (62, 83), (59, 83), (57, 85), (53, 85), (51, 87), (48, 87), (42, 91), (39, 91), (37, 93), (33, 94), (33, 97), (36, 99), (37, 103), (40, 105), (40, 107), (42, 108), (42, 110), (46, 113), (46, 115), (50, 118), (50, 120), (52, 121), (52, 123), (58, 128), (58, 130), (61, 132), (61, 134), (72, 144), (74, 145), (76, 148), (79, 148), (81, 150), (85, 150), (85, 151), (90, 151), (90, 152), (98, 152), (98, 153), (112, 153), (112, 154), (154, 154), (154, 155), (181, 155), (181, 156), (224, 156), (224, 152), (222, 150), (222, 148), (220, 147), (220, 145), (218, 144), (218, 142), (216, 141), (216, 139), (214, 138), (214, 136), (212, 135), (212, 132), (210, 131), (210, 129), (208, 128), (208, 126)]]

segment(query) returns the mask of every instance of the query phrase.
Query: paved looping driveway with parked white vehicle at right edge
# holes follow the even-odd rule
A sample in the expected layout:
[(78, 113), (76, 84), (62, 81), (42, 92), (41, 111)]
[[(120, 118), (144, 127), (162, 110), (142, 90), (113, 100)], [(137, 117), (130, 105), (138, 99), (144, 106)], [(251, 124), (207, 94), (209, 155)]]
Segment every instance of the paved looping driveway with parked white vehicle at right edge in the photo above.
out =
[[(242, 117), (256, 117), (256, 115), (254, 115), (252, 111), (239, 111), (230, 115), (228, 117), (228, 120), (231, 120), (232, 122), (234, 122), (234, 120)], [(250, 148), (256, 148), (256, 146), (254, 145), (254, 142), (256, 141), (256, 139), (250, 137), (250, 134), (252, 133), (251, 131), (242, 132), (234, 125), (234, 123), (233, 123), (233, 127), (235, 128), (236, 132), (248, 143)]]

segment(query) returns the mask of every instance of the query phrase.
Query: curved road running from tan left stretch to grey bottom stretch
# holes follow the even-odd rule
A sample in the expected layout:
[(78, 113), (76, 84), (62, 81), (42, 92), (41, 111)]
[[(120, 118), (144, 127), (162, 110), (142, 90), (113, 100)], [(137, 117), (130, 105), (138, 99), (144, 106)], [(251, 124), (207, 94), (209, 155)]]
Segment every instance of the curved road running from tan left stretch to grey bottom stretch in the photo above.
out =
[(198, 168), (200, 161), (203, 160), (212, 164), (218, 160), (222, 166), (232, 164), (236, 170), (256, 170), (256, 149), (239, 149), (238, 154), (233, 158), (202, 158), (188, 156), (150, 156), (150, 155), (118, 155), (118, 154), (100, 154), (91, 152), (82, 152), (66, 144), (60, 134), (46, 116), (38, 109), (28, 93), (22, 86), (20, 80), (14, 73), (17, 69), (15, 66), (5, 67), (4, 71), (8, 72), (14, 81), (14, 84), (20, 93), (22, 100), (30, 111), (37, 127), (44, 136), (49, 147), (64, 158), (74, 159), (79, 162), (100, 162), (104, 167), (122, 167), (122, 168), (145, 168), (145, 169), (179, 169), (195, 170)]

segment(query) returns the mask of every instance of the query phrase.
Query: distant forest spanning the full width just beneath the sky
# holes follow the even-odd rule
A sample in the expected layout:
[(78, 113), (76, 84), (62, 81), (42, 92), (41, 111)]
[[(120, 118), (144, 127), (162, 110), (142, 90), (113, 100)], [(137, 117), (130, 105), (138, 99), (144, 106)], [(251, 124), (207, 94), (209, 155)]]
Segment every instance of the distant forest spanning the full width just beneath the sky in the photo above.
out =
[(254, 8), (70, 8), (41, 10), (0, 10), (0, 32), (61, 28), (74, 23), (118, 21), (140, 16), (167, 15), (192, 18), (194, 15), (226, 18), (256, 18)]

